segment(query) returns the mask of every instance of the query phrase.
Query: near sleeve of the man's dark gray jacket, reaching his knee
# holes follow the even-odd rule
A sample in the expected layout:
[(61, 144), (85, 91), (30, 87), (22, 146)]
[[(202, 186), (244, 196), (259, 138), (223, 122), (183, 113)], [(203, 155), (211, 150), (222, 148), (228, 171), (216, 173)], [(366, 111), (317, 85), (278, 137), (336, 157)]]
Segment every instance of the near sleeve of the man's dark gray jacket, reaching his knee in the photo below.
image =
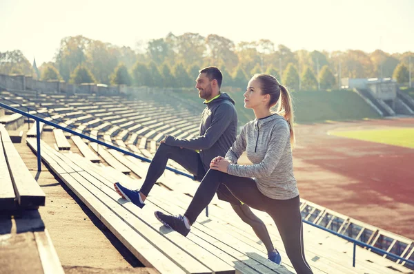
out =
[(213, 120), (204, 135), (191, 139), (179, 139), (174, 136), (168, 136), (166, 138), (166, 144), (193, 150), (209, 149), (219, 140), (224, 131), (226, 131), (234, 115), (235, 109), (232, 105), (226, 103), (221, 104), (215, 109)]

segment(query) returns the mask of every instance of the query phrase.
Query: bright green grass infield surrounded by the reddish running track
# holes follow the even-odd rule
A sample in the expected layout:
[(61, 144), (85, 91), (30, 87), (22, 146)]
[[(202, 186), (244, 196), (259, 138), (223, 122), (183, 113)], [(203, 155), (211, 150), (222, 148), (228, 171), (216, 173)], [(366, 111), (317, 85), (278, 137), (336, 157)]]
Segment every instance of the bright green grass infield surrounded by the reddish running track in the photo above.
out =
[(337, 131), (330, 134), (414, 149), (414, 128)]

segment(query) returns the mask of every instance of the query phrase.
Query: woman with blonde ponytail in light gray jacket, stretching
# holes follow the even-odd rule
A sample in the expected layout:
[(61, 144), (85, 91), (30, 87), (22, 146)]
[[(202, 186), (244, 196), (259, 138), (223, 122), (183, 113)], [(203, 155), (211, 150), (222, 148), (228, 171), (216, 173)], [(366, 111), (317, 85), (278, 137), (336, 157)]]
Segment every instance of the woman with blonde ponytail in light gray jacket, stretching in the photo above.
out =
[[(274, 76), (257, 74), (250, 79), (244, 97), (244, 107), (253, 109), (255, 120), (244, 126), (226, 157), (211, 161), (184, 216), (159, 211), (155, 216), (187, 235), (191, 224), (223, 184), (249, 207), (266, 211), (275, 221), (295, 271), (312, 273), (304, 254), (299, 191), (293, 176), (291, 145), (295, 143), (295, 134), (289, 92)], [(273, 113), (271, 108), (279, 100), (279, 109)], [(237, 165), (244, 151), (253, 165)]]

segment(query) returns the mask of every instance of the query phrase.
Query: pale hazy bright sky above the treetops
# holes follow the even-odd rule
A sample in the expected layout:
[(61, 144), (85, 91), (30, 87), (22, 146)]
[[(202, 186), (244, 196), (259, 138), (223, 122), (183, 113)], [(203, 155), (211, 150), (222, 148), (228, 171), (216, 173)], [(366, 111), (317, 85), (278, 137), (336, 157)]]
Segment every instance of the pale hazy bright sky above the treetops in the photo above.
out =
[(0, 52), (52, 61), (61, 39), (83, 35), (135, 49), (197, 32), (291, 50), (414, 51), (414, 0), (0, 0)]

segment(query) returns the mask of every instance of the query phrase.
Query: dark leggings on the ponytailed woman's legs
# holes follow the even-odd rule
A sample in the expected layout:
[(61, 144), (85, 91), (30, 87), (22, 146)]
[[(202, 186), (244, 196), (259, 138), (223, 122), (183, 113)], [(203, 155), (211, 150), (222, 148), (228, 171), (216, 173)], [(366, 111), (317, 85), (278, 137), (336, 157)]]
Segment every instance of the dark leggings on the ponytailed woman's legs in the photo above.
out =
[(275, 200), (264, 196), (257, 189), (255, 180), (229, 175), (209, 169), (184, 214), (191, 224), (213, 199), (220, 185), (225, 185), (233, 195), (253, 209), (265, 211), (273, 218), (279, 230), (286, 253), (297, 273), (312, 273), (305, 259), (302, 215), (299, 196), (289, 200)]

